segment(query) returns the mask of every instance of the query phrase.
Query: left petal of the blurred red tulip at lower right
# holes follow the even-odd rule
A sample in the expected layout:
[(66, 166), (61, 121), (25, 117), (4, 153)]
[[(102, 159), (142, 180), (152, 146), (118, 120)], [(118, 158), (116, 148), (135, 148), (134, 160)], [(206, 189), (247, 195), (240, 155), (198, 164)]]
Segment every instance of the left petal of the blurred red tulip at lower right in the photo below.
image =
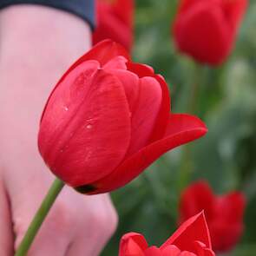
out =
[(179, 223), (202, 210), (205, 211), (207, 220), (211, 220), (214, 214), (214, 202), (215, 198), (212, 189), (206, 181), (198, 181), (187, 187), (181, 194)]

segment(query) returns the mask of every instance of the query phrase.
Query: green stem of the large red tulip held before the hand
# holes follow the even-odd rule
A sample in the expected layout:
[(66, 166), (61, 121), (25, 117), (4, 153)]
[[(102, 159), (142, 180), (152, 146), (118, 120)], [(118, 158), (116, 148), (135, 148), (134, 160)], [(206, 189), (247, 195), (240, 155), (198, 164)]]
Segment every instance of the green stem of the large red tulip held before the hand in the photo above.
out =
[(43, 220), (49, 213), (49, 209), (52, 207), (53, 203), (55, 202), (56, 197), (62, 191), (62, 187), (64, 187), (64, 183), (59, 179), (56, 179), (53, 182), (53, 184), (49, 188), (48, 194), (45, 196), (41, 204), (41, 207), (37, 210), (36, 215), (34, 216), (34, 219), (30, 223), (27, 233), (25, 233), (25, 236), (20, 246), (18, 246), (18, 249), (16, 250), (16, 253), (14, 256), (24, 256), (28, 253), (31, 244), (36, 237), (36, 233), (38, 232), (40, 226), (42, 225)]

